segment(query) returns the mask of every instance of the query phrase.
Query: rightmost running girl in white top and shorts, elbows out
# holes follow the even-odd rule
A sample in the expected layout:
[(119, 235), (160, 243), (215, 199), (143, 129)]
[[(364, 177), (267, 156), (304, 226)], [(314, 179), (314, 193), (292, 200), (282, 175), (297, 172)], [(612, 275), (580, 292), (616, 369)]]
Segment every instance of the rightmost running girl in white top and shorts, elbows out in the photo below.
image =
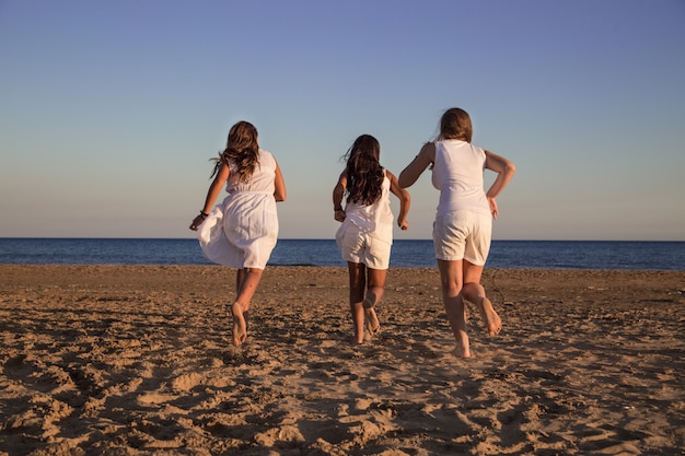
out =
[[(442, 282), (442, 300), (456, 339), (457, 356), (469, 358), (464, 300), (478, 306), (488, 335), (499, 334), (502, 323), (480, 284), (490, 249), (492, 220), (499, 213), (495, 198), (514, 175), (509, 160), (473, 145), (468, 113), (448, 109), (440, 120), (440, 136), (428, 142), (399, 174), (399, 185), (411, 186), (428, 168), (440, 202), (433, 223), (433, 245)], [(484, 169), (497, 173), (484, 190)]]

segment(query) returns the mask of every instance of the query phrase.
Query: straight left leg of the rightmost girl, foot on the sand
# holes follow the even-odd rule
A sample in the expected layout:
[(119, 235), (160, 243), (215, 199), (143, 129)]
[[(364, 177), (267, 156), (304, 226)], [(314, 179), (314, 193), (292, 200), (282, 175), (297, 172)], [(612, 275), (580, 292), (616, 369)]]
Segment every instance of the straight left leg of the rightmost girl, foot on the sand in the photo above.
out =
[(455, 354), (461, 358), (471, 358), (468, 334), (466, 332), (466, 314), (462, 300), (462, 261), (438, 260), (440, 281), (442, 284), (442, 301), (448, 321), (456, 341)]

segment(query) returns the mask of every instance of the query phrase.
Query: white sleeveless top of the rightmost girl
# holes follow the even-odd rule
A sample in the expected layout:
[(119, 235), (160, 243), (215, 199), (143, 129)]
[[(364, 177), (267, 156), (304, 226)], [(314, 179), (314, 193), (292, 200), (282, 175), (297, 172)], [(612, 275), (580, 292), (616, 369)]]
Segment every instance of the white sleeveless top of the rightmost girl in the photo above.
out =
[(440, 190), (437, 215), (467, 210), (490, 214), (485, 195), (483, 172), (485, 151), (466, 141), (436, 141), (432, 184)]

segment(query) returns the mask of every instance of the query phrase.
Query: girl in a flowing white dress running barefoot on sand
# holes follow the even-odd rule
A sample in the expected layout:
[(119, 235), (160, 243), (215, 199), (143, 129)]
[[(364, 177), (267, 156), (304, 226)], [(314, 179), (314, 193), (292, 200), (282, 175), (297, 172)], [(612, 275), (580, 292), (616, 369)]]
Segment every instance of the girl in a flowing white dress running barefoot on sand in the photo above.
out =
[[(233, 344), (239, 347), (247, 338), (249, 302), (276, 246), (276, 201), (286, 200), (286, 184), (276, 159), (259, 149), (257, 129), (247, 121), (231, 127), (225, 149), (213, 160), (214, 179), (190, 230), (199, 227), (207, 259), (237, 268), (231, 315)], [(212, 209), (224, 184), (229, 196)]]

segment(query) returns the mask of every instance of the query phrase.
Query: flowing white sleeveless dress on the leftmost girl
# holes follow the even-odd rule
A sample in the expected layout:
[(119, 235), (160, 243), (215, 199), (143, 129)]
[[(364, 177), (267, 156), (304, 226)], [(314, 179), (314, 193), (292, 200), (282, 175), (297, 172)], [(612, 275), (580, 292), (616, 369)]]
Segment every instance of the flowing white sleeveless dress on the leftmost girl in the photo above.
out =
[(198, 230), (202, 254), (219, 265), (264, 269), (278, 237), (276, 160), (259, 149), (252, 177), (242, 183), (237, 180), (235, 164), (229, 166), (229, 196), (209, 212)]

